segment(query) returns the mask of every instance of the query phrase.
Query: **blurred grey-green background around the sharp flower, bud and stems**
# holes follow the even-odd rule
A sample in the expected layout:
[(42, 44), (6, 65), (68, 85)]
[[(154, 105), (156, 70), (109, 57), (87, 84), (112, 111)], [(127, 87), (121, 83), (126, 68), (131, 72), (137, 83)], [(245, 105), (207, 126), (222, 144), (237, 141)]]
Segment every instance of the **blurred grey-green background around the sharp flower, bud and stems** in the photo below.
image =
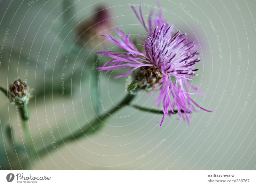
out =
[[(145, 19), (150, 10), (156, 14), (162, 9), (175, 30), (188, 33), (188, 40), (197, 43), (200, 71), (192, 83), (205, 97), (192, 97), (214, 112), (192, 114), (190, 126), (172, 115), (159, 128), (161, 114), (125, 106), (93, 134), (57, 143), (44, 156), (23, 161), (23, 130), (15, 106), (1, 93), (1, 169), (256, 169), (256, 2), (245, 0), (160, 0), (160, 8), (155, 0), (1, 1), (0, 86), (7, 89), (20, 77), (34, 89), (28, 109), (36, 150), (51, 145), (52, 136), (61, 140), (97, 113), (108, 113), (125, 96), (129, 77), (114, 80), (122, 70), (97, 73), (95, 67), (109, 58), (93, 52), (104, 46), (118, 50), (100, 37), (105, 29), (116, 36), (115, 27), (131, 33), (140, 49), (138, 35), (146, 33), (130, 7), (135, 4), (139, 10), (138, 3)], [(156, 98), (157, 93), (142, 93), (132, 104), (151, 108)], [(99, 100), (101, 107), (95, 109)]]

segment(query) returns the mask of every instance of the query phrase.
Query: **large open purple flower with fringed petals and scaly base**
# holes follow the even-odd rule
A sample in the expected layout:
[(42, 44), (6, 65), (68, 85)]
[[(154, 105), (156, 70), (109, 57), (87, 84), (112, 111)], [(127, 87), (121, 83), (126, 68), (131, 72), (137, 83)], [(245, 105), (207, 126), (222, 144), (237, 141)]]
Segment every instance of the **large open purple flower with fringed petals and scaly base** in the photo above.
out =
[[(133, 82), (129, 87), (132, 90), (146, 90), (148, 92), (160, 89), (160, 94), (156, 100), (156, 104), (160, 105), (163, 102), (164, 116), (161, 125), (167, 115), (171, 117), (174, 108), (177, 108), (180, 119), (190, 120), (190, 113), (196, 111), (195, 106), (200, 109), (208, 111), (199, 106), (191, 97), (191, 94), (203, 93), (189, 83), (188, 80), (195, 76), (194, 72), (199, 70), (195, 69), (195, 64), (200, 61), (196, 58), (196, 51), (192, 51), (194, 42), (187, 42), (187, 34), (180, 34), (180, 31), (174, 33), (173, 28), (162, 18), (160, 11), (155, 19), (153, 12), (150, 12), (148, 19), (148, 27), (142, 17), (140, 7), (140, 14), (132, 7), (136, 17), (140, 23), (145, 27), (148, 36), (147, 39), (139, 38), (142, 40), (144, 52), (137, 50), (135, 44), (129, 38), (130, 34), (125, 34), (116, 28), (117, 34), (120, 36), (118, 39), (111, 37), (108, 32), (106, 37), (110, 42), (125, 50), (125, 52), (118, 51), (105, 51), (95, 52), (100, 55), (105, 55), (112, 58), (105, 63), (99, 70), (105, 70), (105, 74), (114, 69), (130, 67), (126, 73), (116, 76), (120, 78), (133, 73)], [(174, 80), (171, 77), (175, 78)], [(192, 89), (195, 92), (190, 93)], [(181, 113), (181, 111), (184, 111)]]

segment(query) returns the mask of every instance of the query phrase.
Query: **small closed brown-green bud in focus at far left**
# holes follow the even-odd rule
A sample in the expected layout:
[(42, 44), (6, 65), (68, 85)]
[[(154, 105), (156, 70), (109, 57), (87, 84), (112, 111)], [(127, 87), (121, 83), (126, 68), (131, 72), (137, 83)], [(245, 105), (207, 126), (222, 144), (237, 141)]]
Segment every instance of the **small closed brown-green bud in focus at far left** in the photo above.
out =
[(27, 104), (32, 97), (32, 90), (26, 83), (20, 79), (16, 79), (12, 85), (10, 85), (10, 91), (8, 91), (8, 97), (12, 104)]

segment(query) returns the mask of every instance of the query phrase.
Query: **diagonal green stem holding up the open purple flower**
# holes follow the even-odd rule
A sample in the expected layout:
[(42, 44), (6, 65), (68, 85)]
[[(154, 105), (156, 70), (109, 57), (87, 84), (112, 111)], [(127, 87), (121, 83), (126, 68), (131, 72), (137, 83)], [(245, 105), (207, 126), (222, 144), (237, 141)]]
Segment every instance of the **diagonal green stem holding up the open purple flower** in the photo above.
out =
[[(114, 108), (112, 108), (109, 111), (109, 113), (114, 113), (114, 112), (118, 111), (119, 109), (123, 108), (123, 106), (128, 105), (134, 97), (135, 97), (135, 95), (128, 94), (126, 97), (124, 97), (124, 99), (118, 105), (116, 105)], [(95, 118), (92, 122), (85, 124), (84, 127), (82, 127), (81, 129), (77, 130), (76, 132), (72, 133), (71, 135), (69, 135), (67, 137), (64, 137), (64, 138), (58, 140), (56, 142), (56, 147), (61, 146), (65, 143), (77, 140), (82, 136), (92, 134), (96, 128), (98, 128), (100, 125), (103, 125), (102, 121), (108, 117), (109, 117), (109, 115), (106, 113), (101, 114), (100, 116)], [(41, 156), (49, 153), (52, 150), (54, 150), (52, 145), (48, 145), (44, 149), (37, 151), (37, 155), (39, 157), (41, 157)]]

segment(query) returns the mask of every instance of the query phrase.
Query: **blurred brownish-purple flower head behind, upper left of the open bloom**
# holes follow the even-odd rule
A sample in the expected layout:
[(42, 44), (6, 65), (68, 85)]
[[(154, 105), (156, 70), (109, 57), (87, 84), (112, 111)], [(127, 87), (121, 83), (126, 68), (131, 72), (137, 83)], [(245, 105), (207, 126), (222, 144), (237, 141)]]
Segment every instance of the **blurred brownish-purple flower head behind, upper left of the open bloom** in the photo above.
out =
[(78, 26), (77, 34), (80, 37), (79, 41), (83, 44), (88, 44), (90, 47), (98, 46), (104, 41), (100, 37), (100, 33), (112, 25), (110, 19), (111, 14), (109, 10), (104, 6), (98, 7), (90, 21), (86, 20)]

